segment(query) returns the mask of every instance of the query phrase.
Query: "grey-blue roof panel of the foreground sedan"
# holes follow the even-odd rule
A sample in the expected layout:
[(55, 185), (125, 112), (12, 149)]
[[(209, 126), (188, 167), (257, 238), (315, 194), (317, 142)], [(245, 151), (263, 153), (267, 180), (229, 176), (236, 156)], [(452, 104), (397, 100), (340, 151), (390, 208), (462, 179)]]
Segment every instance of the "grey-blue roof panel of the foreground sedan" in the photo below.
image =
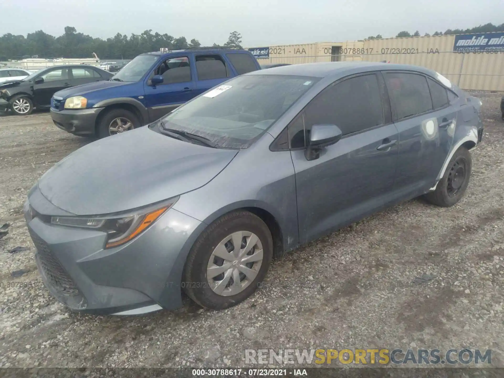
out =
[(249, 72), (245, 75), (292, 75), (311, 76), (318, 78), (343, 76), (343, 74), (357, 74), (368, 71), (384, 70), (405, 70), (419, 71), (432, 74), (432, 71), (417, 66), (396, 65), (390, 63), (368, 62), (368, 61), (327, 61), (318, 63), (305, 63), (290, 66), (273, 67), (268, 70)]

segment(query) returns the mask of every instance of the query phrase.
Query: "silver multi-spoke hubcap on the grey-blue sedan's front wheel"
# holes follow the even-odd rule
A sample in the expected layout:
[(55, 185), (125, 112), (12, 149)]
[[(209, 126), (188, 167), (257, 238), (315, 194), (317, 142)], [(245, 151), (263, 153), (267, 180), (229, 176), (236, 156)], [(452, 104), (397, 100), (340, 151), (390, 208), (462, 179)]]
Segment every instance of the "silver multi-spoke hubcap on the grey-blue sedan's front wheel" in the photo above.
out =
[(263, 244), (256, 234), (237, 231), (215, 247), (207, 267), (207, 279), (219, 295), (235, 295), (250, 285), (263, 263)]

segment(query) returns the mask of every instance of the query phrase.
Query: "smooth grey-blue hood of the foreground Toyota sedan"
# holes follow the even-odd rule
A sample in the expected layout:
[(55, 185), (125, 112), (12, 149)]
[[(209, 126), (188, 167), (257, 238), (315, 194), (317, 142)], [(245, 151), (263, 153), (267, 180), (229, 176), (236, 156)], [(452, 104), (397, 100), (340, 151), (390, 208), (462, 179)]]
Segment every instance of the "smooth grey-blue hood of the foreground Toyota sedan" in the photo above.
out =
[(73, 214), (116, 213), (193, 191), (237, 153), (142, 127), (74, 151), (49, 169), (38, 187), (53, 205)]

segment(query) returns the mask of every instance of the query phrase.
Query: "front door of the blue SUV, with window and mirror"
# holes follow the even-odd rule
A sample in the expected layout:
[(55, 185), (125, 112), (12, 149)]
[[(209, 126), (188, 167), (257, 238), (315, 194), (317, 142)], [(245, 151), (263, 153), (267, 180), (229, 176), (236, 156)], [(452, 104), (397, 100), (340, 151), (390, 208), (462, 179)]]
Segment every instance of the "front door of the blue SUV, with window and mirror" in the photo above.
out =
[[(163, 77), (163, 83), (153, 85), (155, 75)], [(144, 84), (145, 103), (149, 118), (154, 121), (194, 97), (194, 69), (190, 54), (164, 59)]]

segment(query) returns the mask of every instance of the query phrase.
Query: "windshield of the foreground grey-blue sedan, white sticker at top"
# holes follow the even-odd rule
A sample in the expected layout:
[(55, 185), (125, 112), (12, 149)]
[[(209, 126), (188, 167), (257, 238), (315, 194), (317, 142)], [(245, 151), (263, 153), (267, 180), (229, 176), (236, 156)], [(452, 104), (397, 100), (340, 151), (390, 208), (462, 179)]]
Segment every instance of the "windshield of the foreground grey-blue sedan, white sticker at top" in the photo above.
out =
[(204, 137), (218, 147), (247, 148), (318, 80), (239, 76), (161, 118), (160, 127)]

